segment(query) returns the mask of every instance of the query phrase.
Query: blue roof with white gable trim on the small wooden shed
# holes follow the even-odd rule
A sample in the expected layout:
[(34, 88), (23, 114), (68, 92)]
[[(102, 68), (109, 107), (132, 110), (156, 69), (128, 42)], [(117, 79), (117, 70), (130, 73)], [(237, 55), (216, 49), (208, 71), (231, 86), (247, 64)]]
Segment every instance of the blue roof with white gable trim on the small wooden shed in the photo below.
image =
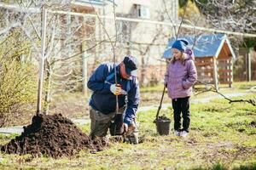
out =
[[(224, 46), (224, 42), (227, 43), (229, 47), (230, 54), (233, 58), (235, 58), (235, 53), (230, 45), (230, 41), (228, 37), (224, 34), (214, 34), (214, 35), (201, 35), (199, 37), (196, 36), (187, 36), (187, 37), (178, 37), (177, 39), (185, 38), (189, 41), (189, 44), (193, 47), (195, 57), (218, 57), (221, 49)], [(163, 58), (169, 59), (172, 58), (172, 44), (175, 42), (175, 38), (168, 42), (166, 47), (166, 51), (163, 54)]]

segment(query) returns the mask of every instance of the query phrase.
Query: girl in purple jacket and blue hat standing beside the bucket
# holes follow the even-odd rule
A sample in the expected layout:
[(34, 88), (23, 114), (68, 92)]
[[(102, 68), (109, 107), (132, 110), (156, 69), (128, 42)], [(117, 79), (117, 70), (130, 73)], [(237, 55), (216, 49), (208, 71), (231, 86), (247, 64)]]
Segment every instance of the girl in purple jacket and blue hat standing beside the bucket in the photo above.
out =
[[(184, 39), (172, 44), (172, 59), (165, 75), (165, 86), (172, 99), (174, 111), (174, 134), (183, 137), (189, 134), (189, 96), (197, 78), (194, 54), (188, 45), (189, 42)], [(183, 113), (182, 129), (181, 112)]]

